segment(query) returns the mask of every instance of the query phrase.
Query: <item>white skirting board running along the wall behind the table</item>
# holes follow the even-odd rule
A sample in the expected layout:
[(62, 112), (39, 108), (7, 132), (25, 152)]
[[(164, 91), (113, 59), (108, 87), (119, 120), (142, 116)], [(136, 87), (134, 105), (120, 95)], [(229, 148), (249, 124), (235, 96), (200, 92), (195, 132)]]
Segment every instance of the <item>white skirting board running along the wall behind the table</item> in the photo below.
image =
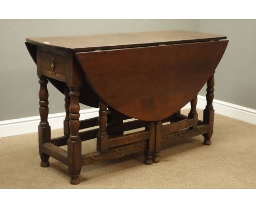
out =
[[(204, 96), (197, 96), (197, 108), (204, 109), (206, 99)], [(218, 114), (227, 117), (246, 121), (256, 125), (256, 110), (238, 106), (229, 102), (213, 100), (213, 107)], [(183, 109), (190, 108), (188, 103)], [(98, 108), (84, 109), (80, 111), (80, 120), (98, 116)], [(65, 113), (49, 114), (48, 121), (51, 129), (60, 129), (63, 127)], [(15, 136), (19, 134), (37, 132), (40, 117), (27, 117), (13, 120), (0, 121), (0, 137)]]

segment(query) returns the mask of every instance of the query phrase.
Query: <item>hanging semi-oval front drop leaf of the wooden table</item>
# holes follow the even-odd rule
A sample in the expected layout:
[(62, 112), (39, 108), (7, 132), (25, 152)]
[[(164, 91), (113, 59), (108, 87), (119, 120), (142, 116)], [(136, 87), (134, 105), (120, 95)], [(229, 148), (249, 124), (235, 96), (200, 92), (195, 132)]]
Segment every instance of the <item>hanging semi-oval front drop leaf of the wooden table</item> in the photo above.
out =
[(117, 111), (159, 121), (193, 99), (211, 77), (228, 41), (77, 53), (91, 87)]

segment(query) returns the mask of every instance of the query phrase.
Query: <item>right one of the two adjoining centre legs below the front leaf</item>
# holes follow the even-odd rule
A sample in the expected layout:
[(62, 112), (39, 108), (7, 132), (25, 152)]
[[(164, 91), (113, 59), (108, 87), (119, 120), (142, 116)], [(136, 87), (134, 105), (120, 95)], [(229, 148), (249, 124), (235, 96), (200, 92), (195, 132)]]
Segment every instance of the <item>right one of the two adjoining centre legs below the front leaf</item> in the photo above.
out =
[(162, 149), (162, 122), (157, 121), (155, 123), (155, 151), (153, 156), (153, 162), (159, 162), (160, 151)]

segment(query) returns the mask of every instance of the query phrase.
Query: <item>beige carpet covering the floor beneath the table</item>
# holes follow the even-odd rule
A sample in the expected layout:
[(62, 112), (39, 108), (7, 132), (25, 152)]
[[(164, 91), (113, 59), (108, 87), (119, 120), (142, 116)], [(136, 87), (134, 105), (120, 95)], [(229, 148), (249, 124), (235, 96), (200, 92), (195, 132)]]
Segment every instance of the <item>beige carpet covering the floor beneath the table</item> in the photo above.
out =
[[(37, 133), (0, 138), (0, 188), (256, 188), (256, 125), (216, 114), (212, 145), (202, 140), (169, 144), (150, 166), (142, 153), (84, 166), (73, 186), (60, 162), (39, 166)], [(84, 142), (83, 153), (95, 144)]]

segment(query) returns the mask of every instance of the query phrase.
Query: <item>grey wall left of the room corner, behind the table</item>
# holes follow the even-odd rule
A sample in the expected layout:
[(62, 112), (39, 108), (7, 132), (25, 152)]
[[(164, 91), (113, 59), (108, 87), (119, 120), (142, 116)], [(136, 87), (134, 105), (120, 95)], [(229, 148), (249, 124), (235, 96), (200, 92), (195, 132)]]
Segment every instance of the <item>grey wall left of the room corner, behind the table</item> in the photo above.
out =
[[(198, 30), (197, 20), (0, 20), (0, 120), (38, 115), (38, 77), (25, 47), (33, 36), (150, 30)], [(64, 112), (63, 95), (48, 84), (49, 113)], [(81, 109), (86, 108), (81, 106)]]

